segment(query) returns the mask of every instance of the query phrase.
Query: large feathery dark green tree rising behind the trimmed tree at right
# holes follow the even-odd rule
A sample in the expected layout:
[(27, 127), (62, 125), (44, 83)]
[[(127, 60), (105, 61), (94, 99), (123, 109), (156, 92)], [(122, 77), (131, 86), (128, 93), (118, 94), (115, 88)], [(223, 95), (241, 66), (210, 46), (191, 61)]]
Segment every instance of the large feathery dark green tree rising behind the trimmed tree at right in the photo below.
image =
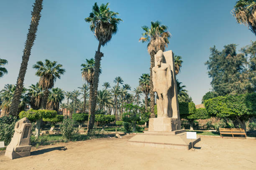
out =
[(251, 80), (246, 74), (246, 57), (236, 53), (236, 46), (225, 45), (222, 51), (215, 46), (210, 48), (210, 58), (205, 65), (212, 78), (212, 89), (218, 96), (252, 92)]

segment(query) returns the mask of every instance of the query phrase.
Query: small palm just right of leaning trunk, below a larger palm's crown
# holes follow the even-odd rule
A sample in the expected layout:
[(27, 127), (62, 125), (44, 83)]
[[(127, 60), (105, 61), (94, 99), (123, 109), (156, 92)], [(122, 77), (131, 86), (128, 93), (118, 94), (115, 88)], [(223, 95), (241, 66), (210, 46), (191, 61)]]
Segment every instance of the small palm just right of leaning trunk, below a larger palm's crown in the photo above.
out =
[(38, 110), (40, 109), (42, 97), (44, 96), (43, 90), (39, 87), (39, 84), (29, 86), (28, 96), (30, 97), (31, 108)]

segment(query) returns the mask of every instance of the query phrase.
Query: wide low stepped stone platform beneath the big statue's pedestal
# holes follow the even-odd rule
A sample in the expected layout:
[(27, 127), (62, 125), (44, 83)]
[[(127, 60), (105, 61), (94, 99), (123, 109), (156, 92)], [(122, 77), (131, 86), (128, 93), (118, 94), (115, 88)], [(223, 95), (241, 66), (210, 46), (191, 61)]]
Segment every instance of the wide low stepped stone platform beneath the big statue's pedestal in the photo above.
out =
[[(199, 142), (200, 137), (197, 139), (187, 139), (187, 134), (184, 130), (177, 130), (177, 134), (173, 132), (150, 132), (137, 134), (127, 142), (128, 146), (140, 146), (140, 147), (155, 147), (177, 150), (189, 150)], [(183, 132), (182, 132), (183, 131)], [(182, 133), (179, 133), (182, 132)]]

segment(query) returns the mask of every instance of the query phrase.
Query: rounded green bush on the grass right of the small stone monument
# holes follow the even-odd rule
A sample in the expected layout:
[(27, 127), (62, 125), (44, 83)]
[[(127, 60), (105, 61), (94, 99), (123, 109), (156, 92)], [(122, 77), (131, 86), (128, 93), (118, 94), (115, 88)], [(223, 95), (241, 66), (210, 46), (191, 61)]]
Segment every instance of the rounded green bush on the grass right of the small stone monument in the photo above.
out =
[(76, 130), (72, 119), (64, 119), (60, 125), (61, 134), (66, 140), (72, 139)]

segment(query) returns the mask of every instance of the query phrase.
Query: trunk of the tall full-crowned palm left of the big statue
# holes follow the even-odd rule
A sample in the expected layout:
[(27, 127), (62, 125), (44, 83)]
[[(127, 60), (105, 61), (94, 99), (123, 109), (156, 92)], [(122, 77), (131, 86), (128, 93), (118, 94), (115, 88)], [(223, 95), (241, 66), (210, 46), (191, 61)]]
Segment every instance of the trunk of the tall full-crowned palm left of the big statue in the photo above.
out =
[(93, 92), (92, 100), (91, 100), (91, 109), (89, 110), (90, 120), (89, 120), (89, 127), (87, 130), (87, 134), (90, 133), (90, 130), (93, 128), (95, 122), (95, 107), (96, 107), (96, 96), (99, 84), (99, 76), (100, 76), (100, 60), (103, 57), (103, 53), (100, 52), (101, 42), (99, 41), (98, 50), (95, 53), (95, 72), (93, 77)]

